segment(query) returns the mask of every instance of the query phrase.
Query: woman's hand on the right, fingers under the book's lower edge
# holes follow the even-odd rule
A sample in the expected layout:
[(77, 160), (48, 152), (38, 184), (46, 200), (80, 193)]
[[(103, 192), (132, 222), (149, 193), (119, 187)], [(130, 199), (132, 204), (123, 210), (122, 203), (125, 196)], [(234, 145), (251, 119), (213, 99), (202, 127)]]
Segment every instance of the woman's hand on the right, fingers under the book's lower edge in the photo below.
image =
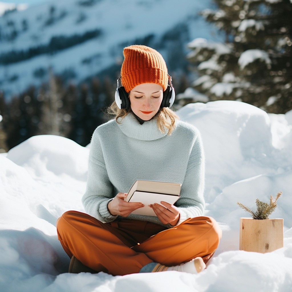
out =
[[(154, 213), (157, 215), (161, 223), (170, 223), (171, 225), (175, 225), (176, 223), (178, 223), (178, 220), (180, 218), (180, 212), (178, 208), (164, 201), (161, 201), (160, 203), (163, 206), (154, 203), (149, 205), (149, 207), (153, 209)], [(164, 208), (164, 206), (166, 208)]]

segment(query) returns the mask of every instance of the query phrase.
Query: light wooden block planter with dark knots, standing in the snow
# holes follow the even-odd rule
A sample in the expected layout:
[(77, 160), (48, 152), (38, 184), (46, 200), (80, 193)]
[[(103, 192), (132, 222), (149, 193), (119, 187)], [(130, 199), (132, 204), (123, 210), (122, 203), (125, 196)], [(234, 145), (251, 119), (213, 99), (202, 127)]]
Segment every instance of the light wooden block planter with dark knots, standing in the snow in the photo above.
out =
[(267, 253), (283, 247), (284, 219), (240, 218), (239, 249)]

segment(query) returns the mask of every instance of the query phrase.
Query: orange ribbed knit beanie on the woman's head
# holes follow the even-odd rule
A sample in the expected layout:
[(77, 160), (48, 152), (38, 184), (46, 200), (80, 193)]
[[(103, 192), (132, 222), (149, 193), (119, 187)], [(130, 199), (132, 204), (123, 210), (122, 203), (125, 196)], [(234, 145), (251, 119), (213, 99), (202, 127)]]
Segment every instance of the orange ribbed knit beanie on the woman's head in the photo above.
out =
[(124, 48), (121, 83), (126, 92), (142, 83), (156, 83), (166, 90), (167, 68), (161, 54), (147, 46), (133, 45)]

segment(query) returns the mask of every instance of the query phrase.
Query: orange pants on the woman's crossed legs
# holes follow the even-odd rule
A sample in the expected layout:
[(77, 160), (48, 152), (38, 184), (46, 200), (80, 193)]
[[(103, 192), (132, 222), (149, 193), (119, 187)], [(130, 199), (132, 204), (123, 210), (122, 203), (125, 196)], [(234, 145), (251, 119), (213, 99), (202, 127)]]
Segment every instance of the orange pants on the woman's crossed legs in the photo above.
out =
[(197, 256), (206, 263), (222, 236), (216, 221), (206, 216), (166, 229), (140, 220), (102, 223), (77, 211), (58, 219), (57, 232), (70, 258), (74, 255), (91, 269), (112, 275), (138, 273), (151, 262), (175, 266)]

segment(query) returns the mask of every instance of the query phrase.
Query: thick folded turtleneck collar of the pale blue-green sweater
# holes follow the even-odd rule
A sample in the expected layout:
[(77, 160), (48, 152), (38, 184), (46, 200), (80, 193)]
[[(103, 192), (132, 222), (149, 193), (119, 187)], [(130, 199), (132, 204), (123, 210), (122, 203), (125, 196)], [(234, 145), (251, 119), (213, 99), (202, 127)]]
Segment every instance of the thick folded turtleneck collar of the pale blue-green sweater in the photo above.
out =
[[(141, 125), (132, 112), (129, 112), (124, 119), (118, 119), (118, 126), (121, 131), (128, 137), (137, 140), (152, 141), (164, 137), (167, 134), (161, 133), (157, 126), (157, 117), (153, 117), (149, 121), (144, 121)], [(142, 120), (143, 121), (143, 120)]]

